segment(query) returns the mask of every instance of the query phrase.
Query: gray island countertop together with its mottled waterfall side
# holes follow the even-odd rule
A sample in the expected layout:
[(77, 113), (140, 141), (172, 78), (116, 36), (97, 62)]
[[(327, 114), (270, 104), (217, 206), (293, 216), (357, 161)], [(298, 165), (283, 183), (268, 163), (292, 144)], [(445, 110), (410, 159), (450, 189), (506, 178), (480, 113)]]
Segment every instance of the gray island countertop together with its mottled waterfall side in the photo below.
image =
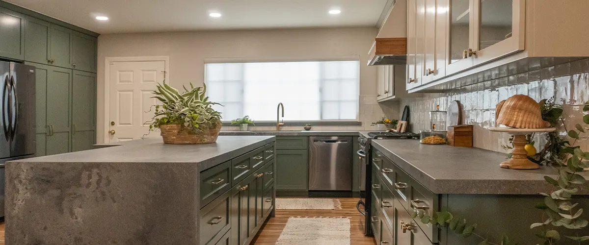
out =
[(198, 244), (199, 173), (274, 136), (160, 138), (6, 164), (6, 244)]

